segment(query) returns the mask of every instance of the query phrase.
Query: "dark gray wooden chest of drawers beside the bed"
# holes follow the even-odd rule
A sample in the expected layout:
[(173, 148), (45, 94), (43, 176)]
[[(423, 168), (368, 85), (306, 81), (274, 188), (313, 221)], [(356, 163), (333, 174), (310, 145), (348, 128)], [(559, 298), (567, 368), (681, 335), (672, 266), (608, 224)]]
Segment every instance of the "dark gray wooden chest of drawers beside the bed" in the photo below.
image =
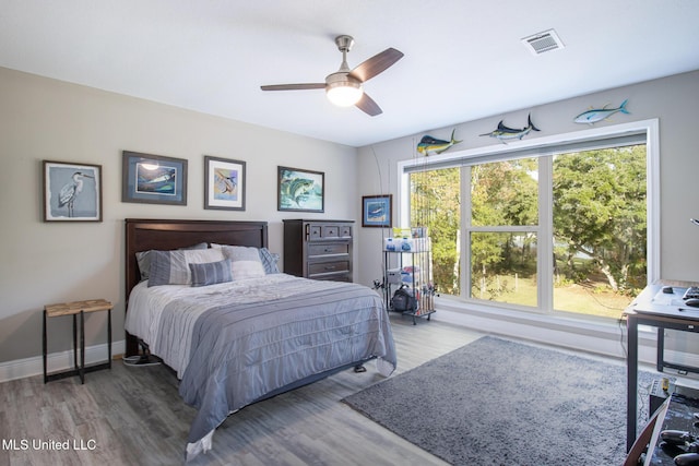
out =
[(284, 272), (352, 282), (354, 220), (284, 220)]

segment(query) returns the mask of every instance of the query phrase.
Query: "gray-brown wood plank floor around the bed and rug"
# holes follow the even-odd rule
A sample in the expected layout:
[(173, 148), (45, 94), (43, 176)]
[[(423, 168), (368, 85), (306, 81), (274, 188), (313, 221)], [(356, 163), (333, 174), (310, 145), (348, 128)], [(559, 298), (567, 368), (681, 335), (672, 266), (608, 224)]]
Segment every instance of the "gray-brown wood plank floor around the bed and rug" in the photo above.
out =
[[(404, 372), (481, 335), (391, 315)], [(374, 362), (248, 406), (216, 430), (213, 450), (188, 465), (445, 465), (357, 414), (341, 399), (383, 380)], [(420, 403), (415, 399), (415, 403)], [(0, 466), (178, 465), (194, 410), (161, 366), (88, 373), (44, 384), (0, 384)], [(58, 450), (68, 446), (69, 450)]]

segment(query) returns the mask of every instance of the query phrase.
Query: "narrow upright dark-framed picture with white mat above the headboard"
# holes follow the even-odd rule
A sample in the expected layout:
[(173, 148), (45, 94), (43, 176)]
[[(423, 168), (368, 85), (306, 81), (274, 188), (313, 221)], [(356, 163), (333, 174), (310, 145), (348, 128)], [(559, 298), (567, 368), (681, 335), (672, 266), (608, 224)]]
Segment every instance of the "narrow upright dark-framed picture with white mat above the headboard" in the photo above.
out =
[(204, 208), (245, 211), (245, 162), (204, 156)]

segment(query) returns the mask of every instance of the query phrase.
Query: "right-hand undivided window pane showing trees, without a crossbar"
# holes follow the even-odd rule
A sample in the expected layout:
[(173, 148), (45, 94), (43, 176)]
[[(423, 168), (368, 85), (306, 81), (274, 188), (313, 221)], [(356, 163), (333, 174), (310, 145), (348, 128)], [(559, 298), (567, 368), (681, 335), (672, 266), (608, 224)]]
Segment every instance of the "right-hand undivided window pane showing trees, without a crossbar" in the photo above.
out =
[(615, 318), (645, 286), (645, 144), (554, 157), (554, 309)]

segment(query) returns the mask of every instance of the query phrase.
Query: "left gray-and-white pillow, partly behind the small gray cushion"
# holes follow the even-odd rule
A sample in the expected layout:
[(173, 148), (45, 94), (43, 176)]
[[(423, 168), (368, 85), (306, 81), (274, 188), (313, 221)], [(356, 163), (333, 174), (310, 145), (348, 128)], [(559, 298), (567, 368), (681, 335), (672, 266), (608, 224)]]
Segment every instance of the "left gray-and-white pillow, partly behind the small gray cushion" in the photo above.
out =
[(191, 285), (189, 264), (223, 261), (217, 249), (151, 251), (149, 287), (159, 285)]

